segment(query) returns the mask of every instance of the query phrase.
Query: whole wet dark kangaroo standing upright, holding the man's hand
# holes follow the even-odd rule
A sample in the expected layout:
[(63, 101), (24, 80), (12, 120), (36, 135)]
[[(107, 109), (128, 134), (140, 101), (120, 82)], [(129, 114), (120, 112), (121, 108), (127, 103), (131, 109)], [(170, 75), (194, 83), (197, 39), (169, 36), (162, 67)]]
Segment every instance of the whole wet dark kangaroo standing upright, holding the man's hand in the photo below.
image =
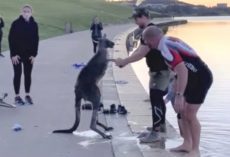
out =
[(95, 56), (80, 72), (75, 85), (75, 114), (76, 119), (74, 125), (70, 129), (55, 130), (53, 133), (73, 133), (80, 123), (81, 100), (90, 101), (93, 105), (93, 113), (90, 124), (90, 129), (100, 134), (105, 139), (111, 139), (111, 135), (106, 135), (104, 132), (97, 129), (97, 126), (102, 127), (105, 131), (113, 130), (98, 121), (98, 110), (100, 107), (101, 93), (98, 87), (98, 82), (104, 76), (108, 64), (107, 48), (113, 48), (114, 43), (106, 39), (106, 35), (99, 40), (98, 51)]

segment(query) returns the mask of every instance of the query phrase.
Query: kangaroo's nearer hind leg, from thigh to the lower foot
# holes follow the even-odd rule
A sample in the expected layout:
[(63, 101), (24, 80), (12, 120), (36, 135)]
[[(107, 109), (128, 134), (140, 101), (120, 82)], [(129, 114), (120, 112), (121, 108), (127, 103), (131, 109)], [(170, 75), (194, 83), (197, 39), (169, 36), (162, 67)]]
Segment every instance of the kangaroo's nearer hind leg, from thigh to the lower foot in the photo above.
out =
[(95, 87), (92, 88), (91, 94), (90, 94), (90, 96), (89, 96), (88, 99), (93, 104), (93, 114), (92, 114), (90, 128), (93, 131), (95, 131), (98, 134), (100, 134), (103, 138), (111, 139), (112, 138), (111, 135), (106, 135), (105, 133), (103, 133), (102, 131), (100, 131), (99, 129), (97, 129), (97, 124), (98, 124), (98, 108), (100, 106), (100, 99), (101, 99), (101, 93), (100, 93), (100, 90), (99, 90), (99, 88), (97, 86), (95, 86)]

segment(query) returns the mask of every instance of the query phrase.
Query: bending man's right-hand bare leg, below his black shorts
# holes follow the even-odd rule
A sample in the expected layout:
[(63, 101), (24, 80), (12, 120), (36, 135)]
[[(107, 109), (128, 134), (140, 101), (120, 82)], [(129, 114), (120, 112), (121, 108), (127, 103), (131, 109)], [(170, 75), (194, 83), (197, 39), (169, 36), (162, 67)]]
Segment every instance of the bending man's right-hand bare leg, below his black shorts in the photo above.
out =
[(197, 112), (200, 108), (198, 104), (188, 104), (188, 123), (192, 135), (192, 150), (187, 155), (188, 157), (199, 157), (200, 156), (200, 132), (201, 126), (197, 119)]

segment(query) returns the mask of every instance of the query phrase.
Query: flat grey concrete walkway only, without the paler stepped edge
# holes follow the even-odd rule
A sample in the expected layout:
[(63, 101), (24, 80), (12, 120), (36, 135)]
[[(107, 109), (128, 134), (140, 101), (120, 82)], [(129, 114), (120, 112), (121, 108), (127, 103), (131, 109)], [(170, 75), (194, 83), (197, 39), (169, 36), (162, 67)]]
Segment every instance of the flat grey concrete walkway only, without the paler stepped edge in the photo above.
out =
[[(131, 25), (111, 26), (104, 30), (108, 38)], [(0, 93), (8, 92), (13, 103), (13, 68), (8, 53), (0, 59)], [(112, 157), (111, 141), (92, 132), (80, 136), (51, 134), (54, 129), (68, 128), (74, 121), (74, 84), (79, 70), (74, 63), (86, 63), (93, 56), (89, 31), (61, 36), (40, 43), (33, 71), (33, 106), (16, 109), (0, 107), (0, 154), (5, 157)], [(22, 79), (23, 80), (23, 79)], [(21, 96), (24, 97), (22, 81)], [(88, 131), (91, 112), (82, 112), (78, 131)], [(104, 118), (104, 116), (100, 116)], [(21, 132), (12, 126), (22, 125)], [(86, 135), (85, 135), (85, 134)], [(87, 137), (84, 137), (87, 136)], [(90, 137), (89, 137), (90, 136)], [(96, 144), (95, 144), (96, 143)]]

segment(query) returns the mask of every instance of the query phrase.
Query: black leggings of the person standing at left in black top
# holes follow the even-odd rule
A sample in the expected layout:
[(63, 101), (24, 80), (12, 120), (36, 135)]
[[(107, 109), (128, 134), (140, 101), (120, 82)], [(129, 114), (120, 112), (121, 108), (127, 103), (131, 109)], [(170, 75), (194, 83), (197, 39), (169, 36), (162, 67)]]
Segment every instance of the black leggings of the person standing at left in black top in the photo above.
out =
[(25, 84), (25, 91), (26, 93), (30, 92), (31, 86), (31, 74), (33, 69), (33, 64), (29, 59), (20, 60), (19, 64), (13, 65), (14, 67), (14, 91), (15, 94), (19, 94), (20, 92), (20, 84), (21, 84), (21, 75), (22, 75), (22, 65), (24, 71), (24, 84)]

